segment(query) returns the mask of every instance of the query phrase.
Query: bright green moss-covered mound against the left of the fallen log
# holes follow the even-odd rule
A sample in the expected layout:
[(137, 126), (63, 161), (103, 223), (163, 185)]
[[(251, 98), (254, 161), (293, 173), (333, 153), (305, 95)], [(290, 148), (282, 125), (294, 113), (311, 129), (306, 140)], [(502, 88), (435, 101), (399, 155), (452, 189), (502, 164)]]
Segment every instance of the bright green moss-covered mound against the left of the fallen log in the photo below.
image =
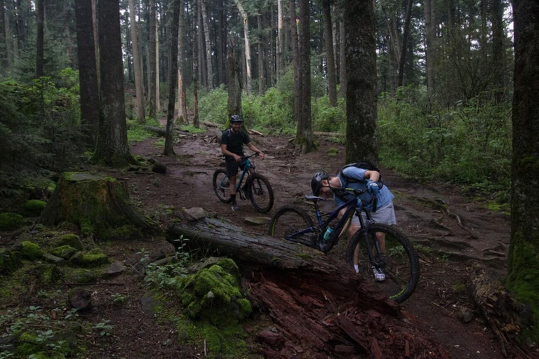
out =
[(249, 316), (251, 303), (241, 293), (240, 280), (232, 259), (221, 259), (185, 278), (180, 297), (189, 317), (207, 319), (220, 327), (237, 324)]

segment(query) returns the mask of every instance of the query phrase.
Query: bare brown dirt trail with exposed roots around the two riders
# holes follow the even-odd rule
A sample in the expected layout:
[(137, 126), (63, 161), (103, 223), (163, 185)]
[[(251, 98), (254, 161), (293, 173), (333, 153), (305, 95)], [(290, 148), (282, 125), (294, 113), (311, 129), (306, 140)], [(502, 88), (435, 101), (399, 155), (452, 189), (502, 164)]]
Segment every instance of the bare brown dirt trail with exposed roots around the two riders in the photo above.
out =
[[(344, 164), (342, 145), (319, 140), (319, 149), (298, 156), (288, 146), (288, 137), (253, 136), (256, 146), (267, 154), (265, 161), (255, 160), (258, 172), (271, 182), (275, 193), (272, 212), (287, 203), (309, 210), (302, 201), (310, 193), (312, 174), (324, 169), (336, 172)], [(220, 168), (220, 148), (211, 135), (185, 137), (175, 145), (178, 158), (161, 156), (157, 140), (131, 147), (135, 155), (152, 157), (167, 165), (166, 175), (128, 172), (131, 196), (150, 212), (161, 205), (175, 208), (201, 207), (210, 215), (232, 220), (248, 230), (262, 233), (266, 226), (253, 226), (245, 217), (267, 217), (256, 212), (251, 203), (240, 201), (240, 212), (233, 212), (213, 193), (213, 171)], [(337, 149), (338, 154), (330, 155)], [(500, 276), (510, 238), (507, 215), (491, 212), (482, 201), (460, 196), (458, 190), (441, 185), (418, 184), (383, 170), (384, 181), (396, 195), (395, 208), (399, 228), (420, 245), (422, 274), (418, 290), (404, 303), (409, 320), (425, 325), (453, 358), (502, 358), (500, 344), (486, 323), (476, 316), (464, 324), (457, 318), (460, 309), (472, 309), (465, 293), (466, 261), (478, 259), (494, 266)], [(331, 208), (332, 203), (326, 203)], [(343, 242), (343, 241), (341, 241)], [(345, 243), (329, 254), (342, 257)], [(509, 349), (512, 358), (525, 358), (517, 348)]]

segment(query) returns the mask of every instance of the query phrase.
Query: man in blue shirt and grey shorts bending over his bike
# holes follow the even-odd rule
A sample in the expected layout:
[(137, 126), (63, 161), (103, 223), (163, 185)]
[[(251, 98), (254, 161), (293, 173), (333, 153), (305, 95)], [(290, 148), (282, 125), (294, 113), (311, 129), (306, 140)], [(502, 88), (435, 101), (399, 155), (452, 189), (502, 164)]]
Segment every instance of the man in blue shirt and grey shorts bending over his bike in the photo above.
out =
[[(346, 167), (346, 166), (345, 166)], [(354, 181), (350, 181), (351, 178)], [(327, 172), (317, 172), (314, 174), (311, 180), (311, 189), (314, 196), (319, 196), (320, 192), (324, 194), (331, 193), (331, 188), (353, 188), (358, 190), (367, 190), (365, 194), (360, 196), (361, 202), (364, 204), (364, 208), (371, 213), (373, 222), (382, 224), (394, 225), (397, 224), (395, 218), (395, 211), (393, 208), (393, 194), (387, 186), (378, 184), (380, 179), (380, 172), (375, 170), (364, 170), (354, 166), (344, 168), (341, 172), (338, 172), (336, 176), (329, 176)], [(376, 196), (376, 210), (373, 212), (374, 196)], [(337, 194), (333, 194), (333, 199), (337, 206), (343, 205), (345, 201)], [(340, 211), (340, 215), (345, 214), (346, 208)], [(363, 213), (364, 221), (366, 221), (366, 215)], [(357, 214), (352, 217), (352, 223), (348, 227), (348, 238), (351, 239), (354, 233), (361, 228), (359, 224), (359, 218)], [(380, 250), (385, 251), (385, 234), (376, 233), (378, 238), (378, 244)], [(354, 252), (354, 269), (356, 273), (359, 273), (359, 246)], [(373, 267), (374, 278), (377, 282), (383, 282), (385, 280), (385, 273), (379, 271)]]

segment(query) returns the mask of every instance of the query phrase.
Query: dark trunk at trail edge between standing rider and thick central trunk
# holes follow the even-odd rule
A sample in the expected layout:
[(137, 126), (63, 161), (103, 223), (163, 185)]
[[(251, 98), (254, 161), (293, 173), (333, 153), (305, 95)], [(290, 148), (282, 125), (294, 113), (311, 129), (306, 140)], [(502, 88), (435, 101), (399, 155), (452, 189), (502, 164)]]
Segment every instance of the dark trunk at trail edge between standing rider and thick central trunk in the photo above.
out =
[(309, 15), (309, 0), (300, 0), (300, 51), (299, 51), (299, 79), (301, 83), (300, 110), (295, 142), (302, 154), (312, 148), (311, 123), (311, 29)]

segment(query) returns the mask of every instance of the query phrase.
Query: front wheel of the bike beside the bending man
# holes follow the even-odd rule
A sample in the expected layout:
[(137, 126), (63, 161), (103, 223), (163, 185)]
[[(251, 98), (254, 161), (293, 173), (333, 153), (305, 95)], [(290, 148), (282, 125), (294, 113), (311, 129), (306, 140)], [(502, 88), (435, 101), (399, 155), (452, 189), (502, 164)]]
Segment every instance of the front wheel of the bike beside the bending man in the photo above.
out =
[[(368, 226), (367, 241), (374, 261), (371, 262), (368, 257), (364, 232), (360, 230), (348, 244), (347, 263), (353, 265), (357, 262), (359, 273), (369, 278), (373, 278), (373, 266), (378, 266), (378, 269), (385, 273), (385, 280), (376, 282), (376, 285), (395, 302), (404, 302), (412, 295), (419, 282), (417, 252), (397, 229), (385, 224), (373, 223)], [(375, 250), (375, 241), (380, 245), (380, 252)]]

